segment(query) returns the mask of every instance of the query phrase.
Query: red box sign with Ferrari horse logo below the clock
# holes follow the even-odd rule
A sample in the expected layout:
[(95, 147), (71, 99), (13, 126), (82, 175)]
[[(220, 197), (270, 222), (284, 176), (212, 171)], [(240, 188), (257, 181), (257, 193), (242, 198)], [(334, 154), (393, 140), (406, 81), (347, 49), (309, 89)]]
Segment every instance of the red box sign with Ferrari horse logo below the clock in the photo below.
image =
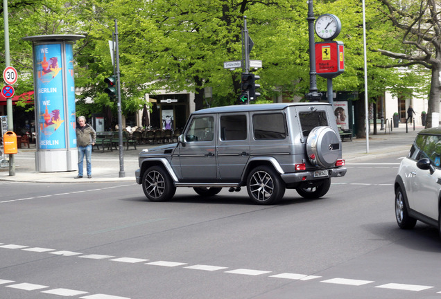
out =
[(345, 71), (343, 42), (315, 43), (315, 70), (323, 78), (336, 78)]

